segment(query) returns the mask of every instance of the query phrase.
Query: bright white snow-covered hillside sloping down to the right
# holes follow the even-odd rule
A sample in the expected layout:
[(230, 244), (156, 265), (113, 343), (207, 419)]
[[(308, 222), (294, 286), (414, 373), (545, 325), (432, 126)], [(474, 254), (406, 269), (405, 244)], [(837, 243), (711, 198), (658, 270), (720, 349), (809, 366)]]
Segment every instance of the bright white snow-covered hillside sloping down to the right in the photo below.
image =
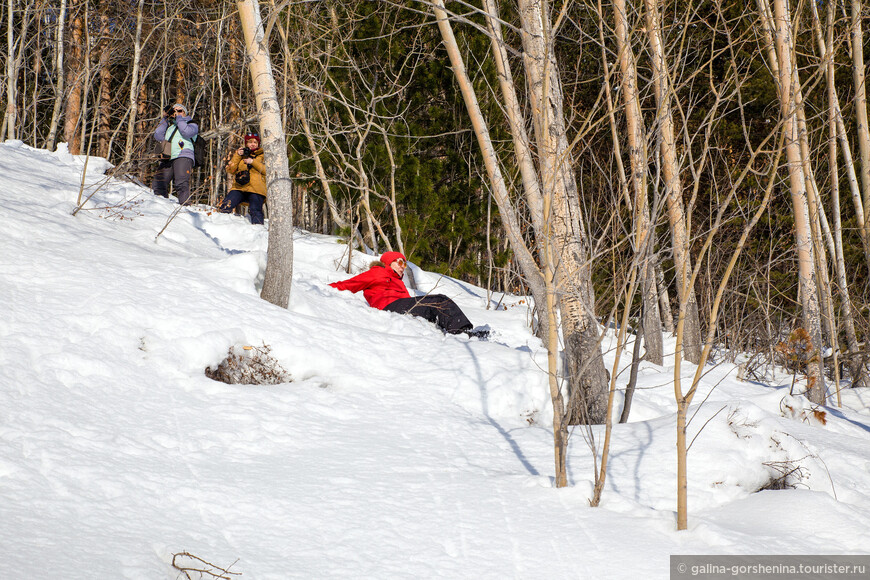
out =
[[(488, 310), (484, 290), (413, 267), (421, 291), (493, 329), (444, 336), (328, 287), (349, 277), (346, 246), (299, 231), (283, 310), (258, 297), (266, 228), (197, 207), (157, 237), (174, 201), (106, 180), (97, 158), (73, 217), (83, 165), (0, 144), (4, 578), (171, 579), (185, 551), (256, 580), (668, 578), (671, 554), (868, 551), (870, 393), (819, 421), (790, 376), (711, 365), (676, 532), (673, 369), (644, 363), (590, 508), (583, 429), (570, 486), (552, 487), (524, 298)], [(205, 376), (243, 345), (292, 380)], [(757, 492), (783, 470), (792, 488)]]

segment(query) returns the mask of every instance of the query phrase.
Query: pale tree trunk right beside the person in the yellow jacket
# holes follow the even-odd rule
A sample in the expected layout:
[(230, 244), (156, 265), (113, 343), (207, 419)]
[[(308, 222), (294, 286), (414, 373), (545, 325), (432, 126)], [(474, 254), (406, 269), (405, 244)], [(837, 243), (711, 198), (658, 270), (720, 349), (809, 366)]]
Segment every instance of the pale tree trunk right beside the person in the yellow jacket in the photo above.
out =
[(293, 280), (293, 191), (284, 123), (281, 120), (272, 62), (263, 42), (260, 5), (257, 0), (241, 0), (238, 8), (257, 114), (260, 117), (260, 137), (266, 152), (266, 183), (269, 189), (269, 246), (261, 297), (287, 308)]

